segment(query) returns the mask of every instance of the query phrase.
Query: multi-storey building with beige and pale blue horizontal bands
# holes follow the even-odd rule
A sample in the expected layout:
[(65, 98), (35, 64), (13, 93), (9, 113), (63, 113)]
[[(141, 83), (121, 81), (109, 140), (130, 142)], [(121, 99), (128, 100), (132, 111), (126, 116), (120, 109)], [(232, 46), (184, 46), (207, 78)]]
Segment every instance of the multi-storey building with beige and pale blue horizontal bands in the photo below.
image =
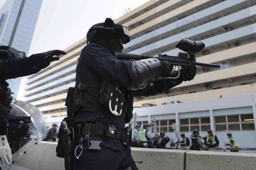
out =
[[(175, 44), (185, 37), (205, 43), (205, 49), (197, 54), (198, 62), (222, 64), (222, 69), (197, 67), (194, 80), (183, 82), (169, 89), (169, 94), (136, 98), (135, 107), (140, 107), (143, 103), (152, 103), (157, 106), (150, 107), (150, 109), (157, 108), (163, 111), (145, 113), (143, 108), (138, 108), (138, 110), (135, 108), (134, 111), (139, 116), (138, 121), (141, 123), (152, 121), (148, 118), (152, 116), (148, 115), (159, 115), (156, 119), (159, 126), (158, 132), (162, 125), (163, 130), (171, 132), (169, 125), (176, 122), (180, 132), (185, 133), (191, 133), (193, 128), (199, 127), (200, 132), (211, 128), (223, 134), (233, 129), (243, 133), (249, 128), (249, 132), (253, 131), (255, 134), (253, 123), (255, 116), (253, 114), (256, 114), (254, 113), (256, 111), (253, 111), (255, 103), (250, 104), (251, 108), (245, 105), (231, 106), (228, 104), (229, 101), (232, 102), (230, 99), (226, 101), (227, 107), (225, 108), (218, 107), (216, 103), (216, 107), (211, 108), (211, 102), (199, 102), (212, 99), (221, 104), (222, 100), (216, 99), (220, 95), (224, 98), (248, 95), (247, 97), (251, 98), (250, 94), (256, 93), (255, 19), (256, 1), (253, 0), (151, 0), (116, 19), (115, 23), (128, 27), (131, 36), (131, 42), (124, 45), (123, 52), (125, 53), (149, 56), (162, 53), (175, 56), (180, 52), (174, 47)], [(25, 89), (27, 93), (24, 94), (27, 97), (25, 101), (37, 106), (46, 117), (66, 115), (64, 105), (67, 89), (75, 85), (76, 61), (85, 45), (86, 38), (83, 38), (64, 49), (67, 54), (59, 61), (54, 61), (48, 68), (28, 76), (28, 86)], [(182, 116), (179, 116), (172, 110), (164, 111), (172, 109), (173, 105), (159, 106), (172, 100), (189, 103), (198, 101), (198, 106), (203, 104), (204, 109), (189, 110), (187, 108), (183, 111), (182, 107), (187, 107), (186, 104), (177, 103), (176, 109), (180, 109), (177, 113), (182, 113), (180, 114)], [(237, 107), (242, 109), (236, 109)], [(214, 111), (219, 109), (231, 110), (228, 113), (226, 110)], [(155, 109), (153, 110), (156, 112)], [(244, 114), (248, 115), (248, 119), (252, 121), (249, 122), (251, 124), (248, 128), (244, 127), (247, 125), (244, 125), (242, 121), (242, 119), (247, 120)], [(145, 115), (147, 117), (144, 117)], [(234, 116), (234, 118), (229, 116)], [(229, 126), (229, 123), (236, 125), (233, 125), (233, 128), (232, 125)]]

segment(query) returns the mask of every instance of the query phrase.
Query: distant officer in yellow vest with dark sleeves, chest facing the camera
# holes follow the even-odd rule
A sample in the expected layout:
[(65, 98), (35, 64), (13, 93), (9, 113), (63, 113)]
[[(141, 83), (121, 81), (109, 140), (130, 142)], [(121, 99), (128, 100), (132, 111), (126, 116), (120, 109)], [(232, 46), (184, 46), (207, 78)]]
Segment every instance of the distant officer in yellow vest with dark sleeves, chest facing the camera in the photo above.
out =
[(213, 148), (218, 148), (219, 140), (215, 134), (212, 134), (212, 130), (207, 130), (206, 137), (201, 137), (202, 139), (206, 140), (206, 144), (204, 145), (205, 150), (213, 151)]

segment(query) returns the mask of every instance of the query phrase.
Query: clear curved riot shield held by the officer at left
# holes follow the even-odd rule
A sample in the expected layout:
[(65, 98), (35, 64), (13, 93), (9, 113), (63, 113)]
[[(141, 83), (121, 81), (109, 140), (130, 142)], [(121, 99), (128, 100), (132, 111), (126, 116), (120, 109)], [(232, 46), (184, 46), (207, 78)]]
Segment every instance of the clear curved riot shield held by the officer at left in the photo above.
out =
[(10, 166), (17, 165), (26, 159), (29, 154), (39, 147), (46, 132), (45, 117), (33, 104), (17, 100), (12, 106), (10, 114), (13, 116), (31, 116), (31, 123), (28, 123), (29, 135), (27, 137), (18, 137), (15, 134), (8, 135), (8, 143), (12, 151), (12, 164), (5, 164), (2, 169), (8, 169)]

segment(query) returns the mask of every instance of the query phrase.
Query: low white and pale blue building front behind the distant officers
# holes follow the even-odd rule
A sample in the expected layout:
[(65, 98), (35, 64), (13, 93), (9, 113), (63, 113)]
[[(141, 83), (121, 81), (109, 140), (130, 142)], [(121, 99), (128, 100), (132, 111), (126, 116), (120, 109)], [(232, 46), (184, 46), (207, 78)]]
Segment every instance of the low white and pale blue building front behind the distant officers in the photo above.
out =
[[(211, 129), (217, 135), (220, 147), (225, 147), (223, 141), (229, 141), (227, 132), (232, 134), (240, 147), (256, 147), (256, 143), (252, 142), (256, 139), (256, 93), (163, 106), (135, 107), (134, 113), (138, 116), (138, 125), (143, 126), (144, 123), (155, 120), (156, 132), (152, 132), (153, 127), (150, 127), (153, 135), (163, 130), (175, 140), (177, 137), (172, 124), (176, 123), (180, 139), (181, 133), (189, 138), (195, 128), (202, 137)], [(59, 126), (64, 117), (46, 118), (47, 128), (51, 128), (52, 124)], [(170, 144), (166, 146), (169, 147)]]

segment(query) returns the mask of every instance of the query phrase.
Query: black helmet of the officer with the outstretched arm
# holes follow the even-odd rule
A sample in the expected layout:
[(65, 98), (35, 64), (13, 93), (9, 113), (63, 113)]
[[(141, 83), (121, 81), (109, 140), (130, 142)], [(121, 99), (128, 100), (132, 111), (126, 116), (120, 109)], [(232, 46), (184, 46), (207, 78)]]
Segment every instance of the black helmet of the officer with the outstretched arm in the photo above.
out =
[(8, 58), (25, 58), (26, 53), (17, 48), (10, 46), (0, 46), (0, 60), (5, 60)]

